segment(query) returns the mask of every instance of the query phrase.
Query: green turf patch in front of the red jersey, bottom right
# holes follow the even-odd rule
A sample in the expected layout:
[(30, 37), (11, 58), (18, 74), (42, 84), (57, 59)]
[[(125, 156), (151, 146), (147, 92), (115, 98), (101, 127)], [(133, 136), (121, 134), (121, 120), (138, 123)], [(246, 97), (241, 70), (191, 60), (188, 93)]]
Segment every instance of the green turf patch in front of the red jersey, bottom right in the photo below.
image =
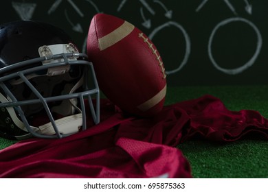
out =
[(188, 141), (178, 148), (188, 158), (194, 178), (268, 178), (267, 141)]

